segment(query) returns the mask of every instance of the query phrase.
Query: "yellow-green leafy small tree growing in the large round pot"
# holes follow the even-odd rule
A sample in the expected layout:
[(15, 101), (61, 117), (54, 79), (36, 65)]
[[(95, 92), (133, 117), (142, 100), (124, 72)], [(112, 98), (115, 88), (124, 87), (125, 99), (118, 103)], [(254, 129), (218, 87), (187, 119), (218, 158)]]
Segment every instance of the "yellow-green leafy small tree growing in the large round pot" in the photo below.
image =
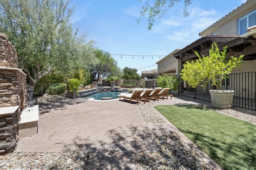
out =
[[(234, 91), (233, 90), (221, 90), (222, 80), (229, 78), (229, 74), (233, 68), (240, 68), (242, 64), (242, 58), (244, 55), (239, 57), (230, 57), (226, 60), (227, 47), (223, 48), (223, 51), (219, 51), (218, 44), (212, 43), (212, 48), (209, 50), (209, 56), (200, 56), (198, 52), (196, 56), (198, 59), (187, 62), (184, 64), (184, 68), (181, 70), (182, 79), (188, 82), (188, 85), (192, 88), (206, 80), (205, 84), (202, 85), (206, 88), (207, 84), (211, 81), (212, 85), (216, 86), (217, 90), (210, 90), (212, 98), (212, 106), (217, 108), (230, 108), (232, 107)], [(216, 96), (215, 94), (218, 93)], [(219, 93), (224, 93), (230, 98), (220, 97)], [(232, 98), (232, 99), (231, 99)], [(222, 100), (219, 100), (222, 99)]]

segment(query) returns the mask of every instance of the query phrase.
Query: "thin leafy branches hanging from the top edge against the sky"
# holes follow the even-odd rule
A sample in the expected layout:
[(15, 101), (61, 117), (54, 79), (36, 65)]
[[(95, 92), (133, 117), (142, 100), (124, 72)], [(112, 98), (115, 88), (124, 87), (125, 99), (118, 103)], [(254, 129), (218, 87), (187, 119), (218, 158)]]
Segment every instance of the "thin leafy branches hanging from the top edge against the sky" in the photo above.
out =
[[(142, 6), (140, 17), (137, 22), (140, 23), (140, 18), (144, 17), (145, 14), (148, 13), (148, 30), (150, 30), (154, 25), (155, 18), (161, 19), (162, 16), (179, 1), (180, 0), (155, 0), (154, 4), (150, 4), (149, 1), (146, 0), (145, 5)], [(189, 15), (188, 6), (192, 4), (192, 0), (184, 0), (183, 3), (183, 15), (186, 17)]]

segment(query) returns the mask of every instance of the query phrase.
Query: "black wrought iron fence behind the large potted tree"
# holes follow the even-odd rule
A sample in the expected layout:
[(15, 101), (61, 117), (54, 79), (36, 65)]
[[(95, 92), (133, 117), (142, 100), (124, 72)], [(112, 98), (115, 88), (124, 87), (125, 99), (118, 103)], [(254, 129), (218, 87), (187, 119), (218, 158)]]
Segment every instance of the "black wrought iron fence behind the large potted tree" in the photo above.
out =
[[(256, 72), (234, 73), (223, 80), (222, 89), (234, 90), (234, 106), (256, 110)], [(201, 85), (191, 88), (186, 82), (180, 84), (179, 90), (171, 93), (189, 96), (203, 100), (211, 100), (210, 89), (216, 89), (208, 83), (204, 89)]]

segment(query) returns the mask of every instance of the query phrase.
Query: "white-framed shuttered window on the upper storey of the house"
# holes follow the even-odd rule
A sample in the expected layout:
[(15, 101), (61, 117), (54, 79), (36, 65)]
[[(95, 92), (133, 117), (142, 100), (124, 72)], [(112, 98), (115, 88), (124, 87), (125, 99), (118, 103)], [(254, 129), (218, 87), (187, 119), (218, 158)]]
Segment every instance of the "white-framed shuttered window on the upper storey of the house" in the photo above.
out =
[(246, 33), (246, 29), (254, 25), (256, 25), (256, 10), (238, 19), (238, 35)]

